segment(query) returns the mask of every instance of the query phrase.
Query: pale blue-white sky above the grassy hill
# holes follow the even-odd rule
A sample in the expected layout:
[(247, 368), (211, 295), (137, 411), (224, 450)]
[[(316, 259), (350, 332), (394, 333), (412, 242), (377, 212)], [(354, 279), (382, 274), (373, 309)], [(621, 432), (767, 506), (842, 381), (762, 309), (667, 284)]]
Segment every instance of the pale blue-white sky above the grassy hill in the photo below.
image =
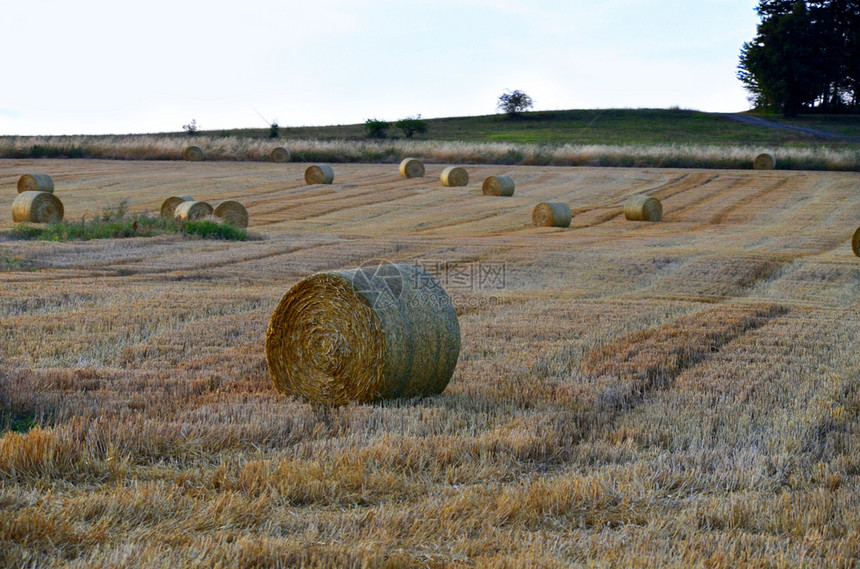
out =
[(0, 0), (0, 135), (749, 109), (756, 0)]

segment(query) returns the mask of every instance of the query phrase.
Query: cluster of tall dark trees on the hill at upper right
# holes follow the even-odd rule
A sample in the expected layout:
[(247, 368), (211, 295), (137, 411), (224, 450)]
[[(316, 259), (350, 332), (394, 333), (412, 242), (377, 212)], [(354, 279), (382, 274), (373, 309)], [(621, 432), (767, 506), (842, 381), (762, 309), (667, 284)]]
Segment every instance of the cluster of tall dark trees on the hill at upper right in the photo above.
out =
[(756, 108), (860, 111), (860, 0), (760, 0), (738, 79)]

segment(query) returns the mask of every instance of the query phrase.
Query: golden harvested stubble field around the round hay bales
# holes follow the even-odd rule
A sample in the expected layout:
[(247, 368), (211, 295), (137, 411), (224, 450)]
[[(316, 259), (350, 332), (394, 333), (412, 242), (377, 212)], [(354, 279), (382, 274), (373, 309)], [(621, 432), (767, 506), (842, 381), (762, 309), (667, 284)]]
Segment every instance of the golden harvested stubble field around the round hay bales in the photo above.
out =
[[(39, 423), (0, 438), (0, 566), (858, 566), (857, 173), (445, 165), (0, 160), (0, 231), (43, 172), (67, 220), (190, 194), (254, 236), (0, 241), (0, 413)], [(454, 300), (446, 391), (276, 392), (280, 297), (372, 259)]]

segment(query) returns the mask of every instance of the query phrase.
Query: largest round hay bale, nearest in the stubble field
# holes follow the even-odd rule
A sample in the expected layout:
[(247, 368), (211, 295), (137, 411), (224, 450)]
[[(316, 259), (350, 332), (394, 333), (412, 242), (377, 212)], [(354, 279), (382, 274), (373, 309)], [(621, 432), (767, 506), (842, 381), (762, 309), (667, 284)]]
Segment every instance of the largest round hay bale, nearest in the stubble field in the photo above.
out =
[(441, 393), (459, 353), (451, 299), (413, 265), (311, 275), (281, 298), (266, 332), (275, 387), (327, 405)]

